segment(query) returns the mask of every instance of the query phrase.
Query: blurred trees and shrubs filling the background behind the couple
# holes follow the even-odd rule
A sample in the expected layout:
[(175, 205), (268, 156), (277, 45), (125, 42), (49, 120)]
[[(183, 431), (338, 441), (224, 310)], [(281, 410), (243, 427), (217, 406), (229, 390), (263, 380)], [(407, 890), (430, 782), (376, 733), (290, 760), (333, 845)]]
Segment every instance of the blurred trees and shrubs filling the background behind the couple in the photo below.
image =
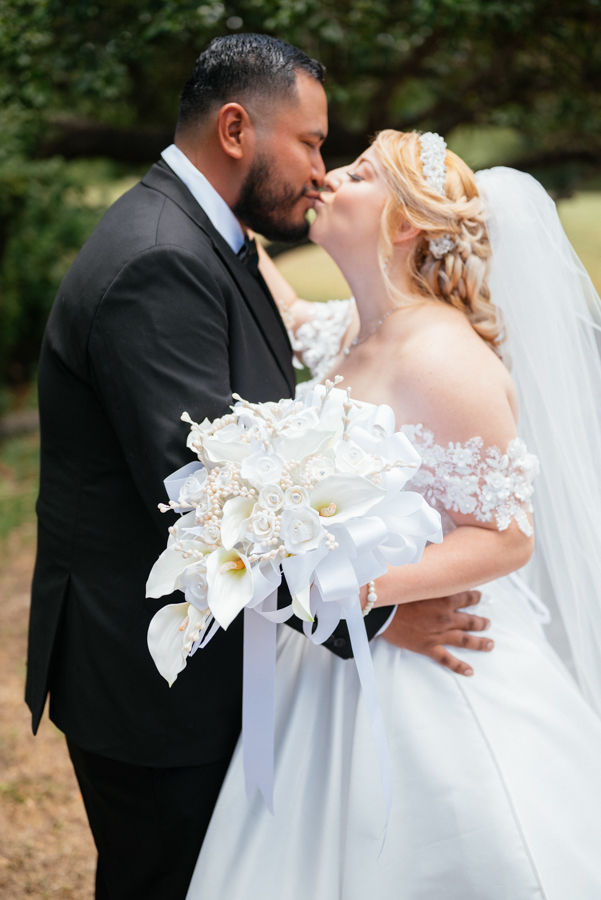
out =
[(601, 0), (0, 0), (0, 384), (31, 378), (64, 272), (171, 142), (212, 37), (325, 63), (330, 165), (382, 128), (432, 129), (565, 197), (601, 186), (600, 25)]

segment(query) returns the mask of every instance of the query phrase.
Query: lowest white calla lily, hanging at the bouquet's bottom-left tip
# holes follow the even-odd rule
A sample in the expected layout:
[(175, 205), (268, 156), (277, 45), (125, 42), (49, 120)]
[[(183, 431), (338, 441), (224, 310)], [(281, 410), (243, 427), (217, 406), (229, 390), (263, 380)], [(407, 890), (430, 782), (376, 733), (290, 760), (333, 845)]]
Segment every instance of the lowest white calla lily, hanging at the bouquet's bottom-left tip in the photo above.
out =
[(189, 603), (169, 603), (152, 617), (148, 626), (148, 649), (169, 687), (186, 668), (188, 654), (200, 637), (207, 618), (207, 612), (201, 612)]

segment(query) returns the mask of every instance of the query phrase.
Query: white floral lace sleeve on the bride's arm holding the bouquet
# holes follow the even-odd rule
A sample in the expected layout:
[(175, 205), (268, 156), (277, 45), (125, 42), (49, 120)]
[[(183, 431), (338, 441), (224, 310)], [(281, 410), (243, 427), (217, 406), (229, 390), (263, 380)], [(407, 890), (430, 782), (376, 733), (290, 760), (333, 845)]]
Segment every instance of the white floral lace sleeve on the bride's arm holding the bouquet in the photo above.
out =
[(520, 531), (532, 535), (527, 513), (532, 512), (532, 482), (539, 462), (520, 438), (510, 441), (502, 453), (498, 447), (483, 451), (479, 437), (441, 447), (421, 425), (405, 425), (402, 431), (422, 456), (411, 485), (433, 505), (472, 515), (480, 522), (490, 522), (494, 516), (499, 531), (514, 520)]

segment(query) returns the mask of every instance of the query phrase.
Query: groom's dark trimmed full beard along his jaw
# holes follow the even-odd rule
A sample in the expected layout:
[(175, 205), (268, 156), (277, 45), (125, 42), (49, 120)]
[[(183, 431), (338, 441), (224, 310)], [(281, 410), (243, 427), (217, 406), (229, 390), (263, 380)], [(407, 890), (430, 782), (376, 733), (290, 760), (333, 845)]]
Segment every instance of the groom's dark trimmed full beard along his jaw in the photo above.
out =
[(309, 233), (309, 223), (292, 219), (294, 207), (305, 196), (307, 188), (298, 190), (278, 181), (274, 158), (259, 156), (242, 185), (240, 196), (232, 207), (234, 214), (269, 241), (300, 241)]

